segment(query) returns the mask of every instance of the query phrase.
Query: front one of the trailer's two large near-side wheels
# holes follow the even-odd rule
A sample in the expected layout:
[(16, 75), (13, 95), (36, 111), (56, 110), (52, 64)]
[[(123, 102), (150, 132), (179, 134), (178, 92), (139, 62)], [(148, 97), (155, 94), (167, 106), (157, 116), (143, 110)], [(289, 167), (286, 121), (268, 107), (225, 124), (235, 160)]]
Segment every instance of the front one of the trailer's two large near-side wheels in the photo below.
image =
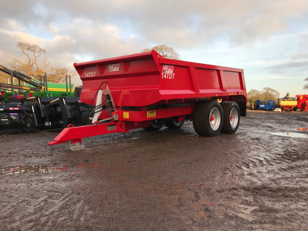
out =
[(193, 128), (200, 136), (217, 136), (222, 127), (222, 109), (217, 101), (201, 101), (193, 110)]

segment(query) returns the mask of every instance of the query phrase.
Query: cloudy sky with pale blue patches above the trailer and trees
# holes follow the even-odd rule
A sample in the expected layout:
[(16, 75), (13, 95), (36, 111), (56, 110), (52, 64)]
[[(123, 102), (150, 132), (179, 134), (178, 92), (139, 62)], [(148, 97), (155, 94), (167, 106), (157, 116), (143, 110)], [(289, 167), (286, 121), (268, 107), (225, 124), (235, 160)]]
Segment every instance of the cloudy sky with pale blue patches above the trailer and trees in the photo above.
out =
[[(46, 49), (53, 67), (173, 47), (182, 60), (244, 69), (246, 89), (307, 94), (307, 0), (3, 1), (0, 63), (16, 43)], [(81, 80), (74, 79), (80, 85)]]

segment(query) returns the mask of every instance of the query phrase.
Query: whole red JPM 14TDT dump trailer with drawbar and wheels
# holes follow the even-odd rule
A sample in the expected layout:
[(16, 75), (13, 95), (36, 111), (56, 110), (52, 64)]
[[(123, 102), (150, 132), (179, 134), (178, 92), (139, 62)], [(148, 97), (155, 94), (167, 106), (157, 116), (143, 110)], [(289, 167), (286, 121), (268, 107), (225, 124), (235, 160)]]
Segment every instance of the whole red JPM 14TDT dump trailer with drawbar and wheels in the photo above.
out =
[(74, 63), (90, 104), (88, 124), (69, 125), (49, 142), (83, 149), (83, 138), (135, 128), (180, 128), (193, 121), (201, 136), (235, 133), (246, 116), (242, 69), (166, 59), (156, 51)]

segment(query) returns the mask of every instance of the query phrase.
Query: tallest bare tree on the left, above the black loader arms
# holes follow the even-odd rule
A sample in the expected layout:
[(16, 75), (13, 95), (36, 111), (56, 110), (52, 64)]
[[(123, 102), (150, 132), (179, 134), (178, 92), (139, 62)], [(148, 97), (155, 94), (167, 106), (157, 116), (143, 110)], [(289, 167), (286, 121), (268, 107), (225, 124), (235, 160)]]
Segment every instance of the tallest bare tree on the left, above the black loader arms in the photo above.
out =
[(41, 55), (46, 54), (46, 50), (38, 45), (23, 42), (18, 42), (17, 47), (22, 54), (26, 55), (26, 58), (24, 60), (12, 59), (13, 68), (39, 79), (39, 76), (43, 75), (49, 66), (47, 59), (41, 59)]

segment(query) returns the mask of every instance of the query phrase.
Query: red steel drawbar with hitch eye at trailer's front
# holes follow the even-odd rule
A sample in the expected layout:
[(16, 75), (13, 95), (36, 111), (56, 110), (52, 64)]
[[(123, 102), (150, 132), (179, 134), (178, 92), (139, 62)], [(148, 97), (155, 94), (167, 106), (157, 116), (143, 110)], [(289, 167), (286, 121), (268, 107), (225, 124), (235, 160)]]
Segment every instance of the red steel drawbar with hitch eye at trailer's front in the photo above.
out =
[[(108, 126), (109, 125), (109, 126)], [(112, 126), (113, 125), (113, 126)], [(111, 127), (113, 130), (111, 130)], [(109, 128), (109, 131), (108, 131)], [(84, 125), (79, 127), (69, 127), (64, 128), (62, 132), (54, 139), (54, 141), (48, 142), (49, 145), (54, 144), (63, 144), (67, 140), (77, 140), (89, 136), (99, 136), (103, 134), (109, 134), (114, 132), (122, 132), (121, 128), (119, 129), (119, 122), (110, 122), (103, 124), (93, 124), (93, 125)], [(72, 142), (74, 143), (74, 142)]]

